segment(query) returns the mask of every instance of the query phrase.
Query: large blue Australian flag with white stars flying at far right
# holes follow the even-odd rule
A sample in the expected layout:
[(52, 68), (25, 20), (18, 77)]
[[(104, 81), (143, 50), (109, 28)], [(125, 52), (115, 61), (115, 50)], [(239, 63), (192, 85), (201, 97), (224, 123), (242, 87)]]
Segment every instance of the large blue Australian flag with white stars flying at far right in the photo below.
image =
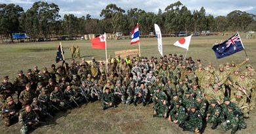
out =
[(215, 52), (217, 59), (221, 59), (244, 50), (244, 45), (242, 44), (239, 33), (236, 33), (226, 41), (213, 46), (211, 49)]

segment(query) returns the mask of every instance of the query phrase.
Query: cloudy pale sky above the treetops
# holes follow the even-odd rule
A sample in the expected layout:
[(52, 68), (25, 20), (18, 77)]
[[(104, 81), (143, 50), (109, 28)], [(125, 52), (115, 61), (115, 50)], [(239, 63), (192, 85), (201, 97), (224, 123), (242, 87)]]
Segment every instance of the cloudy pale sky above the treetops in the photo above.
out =
[[(45, 0), (47, 3), (55, 3), (60, 8), (60, 15), (75, 14), (86, 16), (91, 14), (92, 18), (100, 18), (100, 11), (110, 3), (125, 9), (141, 8), (146, 12), (158, 12), (158, 8), (164, 11), (165, 7), (177, 1), (174, 0)], [(0, 3), (15, 3), (24, 10), (32, 7), (35, 0), (0, 0)], [(181, 3), (189, 10), (200, 10), (204, 7), (206, 14), (213, 16), (226, 16), (232, 10), (242, 10), (256, 14), (256, 0), (181, 0)]]

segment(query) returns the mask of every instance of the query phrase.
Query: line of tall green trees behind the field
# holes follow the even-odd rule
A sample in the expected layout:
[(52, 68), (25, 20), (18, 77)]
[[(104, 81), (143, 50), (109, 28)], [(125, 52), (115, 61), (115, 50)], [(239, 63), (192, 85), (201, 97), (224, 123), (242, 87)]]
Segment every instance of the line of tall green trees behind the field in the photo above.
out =
[(140, 34), (147, 35), (158, 24), (163, 34), (179, 31), (256, 31), (256, 15), (234, 10), (226, 16), (205, 14), (205, 8), (190, 12), (180, 1), (168, 5), (158, 13), (146, 12), (140, 8), (131, 8), (125, 12), (115, 4), (109, 4), (100, 12), (102, 19), (91, 18), (90, 14), (77, 17), (64, 14), (61, 18), (60, 8), (54, 3), (37, 1), (24, 11), (15, 4), (0, 4), (0, 35), (11, 38), (12, 33), (27, 33), (32, 39), (51, 38), (68, 35), (76, 37), (89, 33), (116, 33), (129, 35), (139, 23)]

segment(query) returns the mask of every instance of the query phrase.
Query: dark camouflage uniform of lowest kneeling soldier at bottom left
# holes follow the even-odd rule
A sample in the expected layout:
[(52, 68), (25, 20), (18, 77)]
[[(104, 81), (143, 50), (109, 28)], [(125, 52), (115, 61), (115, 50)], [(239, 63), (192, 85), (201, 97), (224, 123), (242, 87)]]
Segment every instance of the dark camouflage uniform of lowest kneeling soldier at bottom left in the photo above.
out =
[(20, 116), (18, 118), (18, 123), (21, 124), (20, 133), (26, 134), (28, 133), (28, 129), (33, 126), (37, 126), (37, 124), (29, 125), (28, 122), (32, 122), (33, 120), (37, 120), (39, 118), (38, 114), (32, 110), (31, 112), (26, 112), (26, 110), (20, 112)]

